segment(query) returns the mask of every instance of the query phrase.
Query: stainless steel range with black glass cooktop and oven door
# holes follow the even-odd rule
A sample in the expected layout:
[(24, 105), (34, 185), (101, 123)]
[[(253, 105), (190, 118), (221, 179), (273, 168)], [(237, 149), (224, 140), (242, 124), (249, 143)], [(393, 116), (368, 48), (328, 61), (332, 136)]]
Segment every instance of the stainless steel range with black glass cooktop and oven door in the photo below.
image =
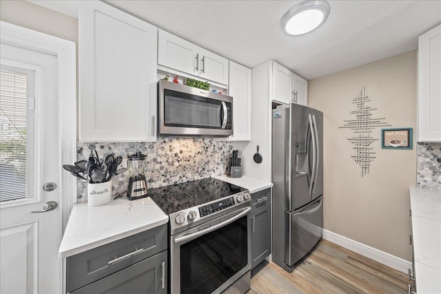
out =
[(170, 216), (171, 293), (245, 293), (251, 280), (249, 191), (214, 178), (150, 189)]

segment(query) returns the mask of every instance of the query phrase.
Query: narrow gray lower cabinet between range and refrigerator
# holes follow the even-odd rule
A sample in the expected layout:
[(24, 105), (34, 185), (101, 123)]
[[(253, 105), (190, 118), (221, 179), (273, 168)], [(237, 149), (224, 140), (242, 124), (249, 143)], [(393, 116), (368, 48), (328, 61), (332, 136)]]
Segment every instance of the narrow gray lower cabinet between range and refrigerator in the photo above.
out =
[(271, 254), (271, 189), (252, 194), (252, 269)]

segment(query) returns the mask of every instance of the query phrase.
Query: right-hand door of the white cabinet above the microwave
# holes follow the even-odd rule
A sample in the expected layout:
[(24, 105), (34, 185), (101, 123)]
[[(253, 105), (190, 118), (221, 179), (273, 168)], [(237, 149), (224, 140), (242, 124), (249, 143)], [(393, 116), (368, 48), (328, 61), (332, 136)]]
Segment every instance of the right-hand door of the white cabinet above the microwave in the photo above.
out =
[(228, 85), (228, 59), (201, 48), (199, 77)]

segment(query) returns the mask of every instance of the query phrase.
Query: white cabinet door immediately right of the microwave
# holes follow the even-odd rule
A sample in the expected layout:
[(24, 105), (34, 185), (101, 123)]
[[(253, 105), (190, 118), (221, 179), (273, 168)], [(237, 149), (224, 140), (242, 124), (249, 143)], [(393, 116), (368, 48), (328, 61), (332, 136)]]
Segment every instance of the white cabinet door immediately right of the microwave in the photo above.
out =
[(251, 69), (229, 61), (228, 95), (233, 97), (233, 141), (251, 140)]

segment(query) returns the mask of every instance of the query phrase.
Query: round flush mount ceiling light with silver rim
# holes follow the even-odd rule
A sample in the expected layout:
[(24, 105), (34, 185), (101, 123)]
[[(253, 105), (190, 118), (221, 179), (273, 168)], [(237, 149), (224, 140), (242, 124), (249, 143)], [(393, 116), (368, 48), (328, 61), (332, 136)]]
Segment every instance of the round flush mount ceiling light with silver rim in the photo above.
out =
[(316, 30), (328, 18), (331, 6), (325, 0), (307, 0), (290, 8), (280, 25), (288, 36), (301, 36)]

